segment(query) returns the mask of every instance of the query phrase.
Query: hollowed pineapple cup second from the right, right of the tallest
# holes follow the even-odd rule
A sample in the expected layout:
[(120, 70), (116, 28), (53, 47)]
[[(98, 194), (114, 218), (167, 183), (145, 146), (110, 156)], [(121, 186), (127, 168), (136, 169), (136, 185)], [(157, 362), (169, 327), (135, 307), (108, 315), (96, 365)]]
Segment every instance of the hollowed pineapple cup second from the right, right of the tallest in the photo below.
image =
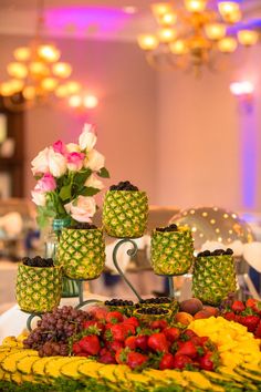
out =
[(150, 258), (156, 275), (176, 276), (188, 272), (194, 261), (194, 243), (190, 229), (152, 233)]

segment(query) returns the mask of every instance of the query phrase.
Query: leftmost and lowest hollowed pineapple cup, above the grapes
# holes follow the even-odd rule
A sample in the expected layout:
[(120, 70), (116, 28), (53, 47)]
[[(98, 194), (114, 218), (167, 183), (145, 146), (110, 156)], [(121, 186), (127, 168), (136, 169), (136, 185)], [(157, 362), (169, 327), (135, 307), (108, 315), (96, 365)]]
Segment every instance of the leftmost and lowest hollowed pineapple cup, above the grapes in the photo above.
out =
[(31, 313), (52, 311), (58, 307), (62, 291), (60, 267), (30, 267), (20, 264), (17, 276), (17, 301)]

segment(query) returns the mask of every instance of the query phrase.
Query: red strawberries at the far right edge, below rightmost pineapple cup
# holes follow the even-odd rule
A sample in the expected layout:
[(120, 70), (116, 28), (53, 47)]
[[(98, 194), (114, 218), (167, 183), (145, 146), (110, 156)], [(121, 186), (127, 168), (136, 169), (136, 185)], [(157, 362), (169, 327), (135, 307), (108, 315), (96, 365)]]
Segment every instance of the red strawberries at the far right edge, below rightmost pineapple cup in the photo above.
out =
[(247, 301), (227, 301), (221, 314), (229, 321), (236, 321), (248, 328), (254, 338), (261, 339), (261, 302), (249, 298)]

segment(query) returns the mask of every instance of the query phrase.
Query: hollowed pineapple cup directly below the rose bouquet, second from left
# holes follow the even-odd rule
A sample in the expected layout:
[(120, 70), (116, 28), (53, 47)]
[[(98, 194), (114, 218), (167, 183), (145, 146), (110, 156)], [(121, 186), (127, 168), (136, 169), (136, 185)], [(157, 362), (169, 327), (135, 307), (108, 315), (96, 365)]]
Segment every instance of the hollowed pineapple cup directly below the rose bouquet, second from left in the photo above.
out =
[(103, 230), (63, 228), (55, 262), (63, 267), (70, 279), (98, 278), (105, 265)]

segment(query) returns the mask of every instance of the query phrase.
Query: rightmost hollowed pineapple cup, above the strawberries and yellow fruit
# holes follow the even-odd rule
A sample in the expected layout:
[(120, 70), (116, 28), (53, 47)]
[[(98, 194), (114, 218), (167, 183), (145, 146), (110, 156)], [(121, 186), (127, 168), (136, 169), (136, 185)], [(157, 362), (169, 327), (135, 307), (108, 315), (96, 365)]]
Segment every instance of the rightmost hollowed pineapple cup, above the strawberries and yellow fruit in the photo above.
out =
[(236, 271), (231, 255), (197, 257), (194, 265), (192, 293), (203, 303), (218, 306), (236, 291)]

